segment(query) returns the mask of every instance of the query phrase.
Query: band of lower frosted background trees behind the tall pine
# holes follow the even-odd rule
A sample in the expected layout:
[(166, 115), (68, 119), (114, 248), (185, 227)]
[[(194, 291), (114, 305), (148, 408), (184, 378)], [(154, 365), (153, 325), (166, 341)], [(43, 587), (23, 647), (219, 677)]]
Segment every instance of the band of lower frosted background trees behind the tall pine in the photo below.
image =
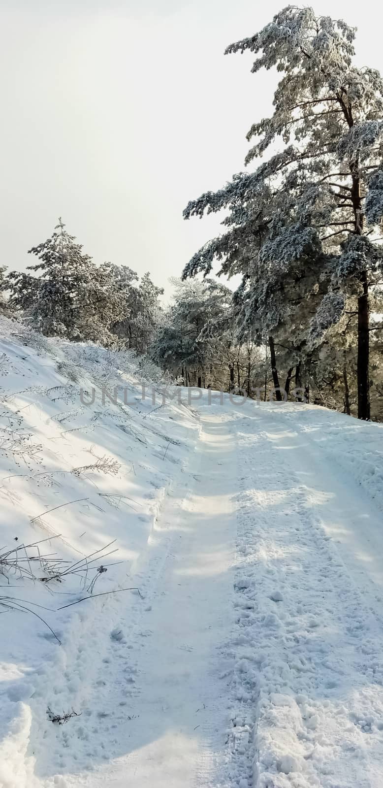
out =
[[(149, 273), (95, 265), (60, 220), (49, 239), (32, 247), (37, 262), (25, 271), (1, 269), (2, 313), (44, 336), (128, 348), (162, 366), (180, 384), (244, 392), (261, 400), (301, 399), (357, 414), (357, 331), (344, 316), (309, 348), (294, 344), (307, 320), (274, 335), (239, 328), (238, 293), (217, 278), (171, 280), (173, 300), (162, 303)], [(309, 313), (310, 314), (310, 313)], [(308, 328), (306, 326), (306, 328)], [(380, 333), (371, 333), (372, 418), (383, 418)], [(299, 394), (295, 390), (299, 388)]]

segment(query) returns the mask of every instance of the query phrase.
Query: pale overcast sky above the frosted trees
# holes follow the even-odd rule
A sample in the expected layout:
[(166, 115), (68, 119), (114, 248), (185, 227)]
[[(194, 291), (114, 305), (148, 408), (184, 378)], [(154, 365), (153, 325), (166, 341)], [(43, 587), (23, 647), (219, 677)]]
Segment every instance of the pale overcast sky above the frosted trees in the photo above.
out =
[[(170, 276), (218, 230), (189, 199), (244, 169), (246, 132), (276, 77), (224, 57), (283, 0), (0, 0), (2, 265), (62, 216), (95, 262)], [(383, 71), (379, 4), (315, 0), (359, 28), (359, 65)]]

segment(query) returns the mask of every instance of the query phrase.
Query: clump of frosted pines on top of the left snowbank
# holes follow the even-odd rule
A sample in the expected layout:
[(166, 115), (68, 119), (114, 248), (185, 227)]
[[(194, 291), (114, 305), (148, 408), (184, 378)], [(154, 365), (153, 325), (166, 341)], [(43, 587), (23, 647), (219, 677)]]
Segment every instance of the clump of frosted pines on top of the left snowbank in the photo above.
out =
[(128, 266), (95, 266), (82, 249), (59, 219), (53, 235), (29, 250), (39, 263), (0, 281), (0, 290), (9, 291), (9, 307), (48, 336), (105, 347), (123, 344), (147, 354), (162, 288), (149, 273), (137, 284), (137, 274)]

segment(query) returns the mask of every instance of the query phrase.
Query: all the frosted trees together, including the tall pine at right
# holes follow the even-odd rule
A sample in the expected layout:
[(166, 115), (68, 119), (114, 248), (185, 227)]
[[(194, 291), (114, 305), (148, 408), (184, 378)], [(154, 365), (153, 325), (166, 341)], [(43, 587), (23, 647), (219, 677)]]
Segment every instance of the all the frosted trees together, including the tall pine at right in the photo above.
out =
[[(248, 169), (184, 210), (218, 213), (223, 229), (173, 281), (170, 307), (148, 273), (95, 266), (60, 220), (35, 265), (2, 269), (2, 310), (47, 336), (132, 348), (184, 385), (277, 400), (302, 388), (383, 420), (383, 80), (355, 65), (354, 39), (288, 6), (228, 47), (281, 79), (247, 133)], [(236, 292), (221, 274), (241, 275)]]

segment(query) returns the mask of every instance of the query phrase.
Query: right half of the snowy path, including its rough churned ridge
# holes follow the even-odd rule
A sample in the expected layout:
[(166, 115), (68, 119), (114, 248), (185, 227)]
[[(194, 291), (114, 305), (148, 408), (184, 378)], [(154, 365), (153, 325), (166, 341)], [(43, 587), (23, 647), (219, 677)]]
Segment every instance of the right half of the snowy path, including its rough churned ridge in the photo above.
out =
[(235, 672), (238, 714), (256, 723), (244, 785), (378, 788), (381, 517), (299, 426), (266, 408), (242, 425)]

